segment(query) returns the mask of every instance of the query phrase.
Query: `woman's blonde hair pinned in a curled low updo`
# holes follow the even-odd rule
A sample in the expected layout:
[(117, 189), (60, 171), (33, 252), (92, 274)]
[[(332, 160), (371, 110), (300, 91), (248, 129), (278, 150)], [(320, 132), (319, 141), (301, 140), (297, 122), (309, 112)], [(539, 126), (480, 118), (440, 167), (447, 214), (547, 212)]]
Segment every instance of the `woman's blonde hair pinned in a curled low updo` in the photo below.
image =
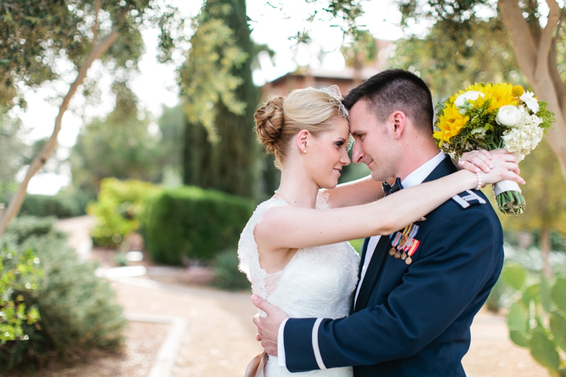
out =
[(255, 132), (267, 153), (275, 156), (275, 166), (282, 165), (289, 140), (301, 129), (316, 137), (328, 131), (328, 121), (333, 117), (347, 119), (347, 111), (339, 99), (340, 91), (336, 86), (329, 89), (333, 95), (325, 92), (328, 89), (296, 89), (287, 97), (270, 98), (255, 111)]

